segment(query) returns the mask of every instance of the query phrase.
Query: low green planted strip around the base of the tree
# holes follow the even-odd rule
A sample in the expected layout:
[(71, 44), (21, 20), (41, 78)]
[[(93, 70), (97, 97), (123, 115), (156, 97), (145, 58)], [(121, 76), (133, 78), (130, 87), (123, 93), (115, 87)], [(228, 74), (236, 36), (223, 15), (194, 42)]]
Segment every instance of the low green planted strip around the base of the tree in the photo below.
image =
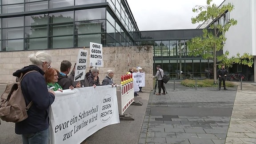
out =
[[(196, 80), (182, 80), (180, 84), (186, 87), (196, 87)], [(236, 85), (230, 81), (226, 81), (226, 87), (235, 87)], [(217, 84), (214, 84), (214, 80), (197, 80), (197, 87), (218, 87)], [(222, 85), (223, 87), (223, 85)]]

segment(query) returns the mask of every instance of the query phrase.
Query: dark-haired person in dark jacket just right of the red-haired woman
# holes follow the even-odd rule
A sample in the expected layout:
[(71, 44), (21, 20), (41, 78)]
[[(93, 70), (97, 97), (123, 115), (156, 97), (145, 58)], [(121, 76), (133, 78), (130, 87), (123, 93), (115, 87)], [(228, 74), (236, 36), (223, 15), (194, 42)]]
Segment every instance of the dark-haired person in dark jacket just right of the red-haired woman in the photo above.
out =
[(68, 74), (71, 70), (71, 62), (68, 60), (63, 60), (60, 64), (60, 74), (58, 78), (58, 84), (60, 84), (61, 88), (63, 89), (74, 89), (80, 88), (79, 83), (77, 85), (72, 85), (72, 81), (68, 79)]

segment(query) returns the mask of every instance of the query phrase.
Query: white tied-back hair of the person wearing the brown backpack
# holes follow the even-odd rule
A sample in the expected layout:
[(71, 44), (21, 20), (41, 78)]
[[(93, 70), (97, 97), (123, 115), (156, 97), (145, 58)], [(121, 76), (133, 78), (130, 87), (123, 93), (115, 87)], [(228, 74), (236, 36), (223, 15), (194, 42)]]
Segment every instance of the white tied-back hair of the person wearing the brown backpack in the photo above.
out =
[(43, 51), (36, 52), (36, 54), (32, 53), (28, 55), (28, 58), (32, 64), (38, 66), (39, 68), (42, 68), (42, 64), (44, 62), (47, 62), (48, 64), (52, 62), (52, 56)]

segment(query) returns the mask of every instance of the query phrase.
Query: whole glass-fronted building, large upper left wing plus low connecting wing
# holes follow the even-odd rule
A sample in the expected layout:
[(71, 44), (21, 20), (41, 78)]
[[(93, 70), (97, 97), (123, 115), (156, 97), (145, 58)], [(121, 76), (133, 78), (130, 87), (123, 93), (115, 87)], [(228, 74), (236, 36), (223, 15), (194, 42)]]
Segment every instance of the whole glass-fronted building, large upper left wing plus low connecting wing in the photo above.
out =
[(212, 78), (212, 60), (188, 56), (202, 29), (139, 31), (127, 0), (0, 0), (0, 52), (153, 46), (153, 70), (172, 79)]

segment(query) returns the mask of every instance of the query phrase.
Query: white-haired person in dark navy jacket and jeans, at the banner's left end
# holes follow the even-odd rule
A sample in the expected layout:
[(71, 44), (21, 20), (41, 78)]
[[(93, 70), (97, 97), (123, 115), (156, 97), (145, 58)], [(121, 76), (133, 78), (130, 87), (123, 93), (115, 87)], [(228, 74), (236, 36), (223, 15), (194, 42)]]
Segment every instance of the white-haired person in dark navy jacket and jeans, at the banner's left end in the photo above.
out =
[(28, 109), (28, 118), (15, 123), (15, 133), (22, 135), (23, 144), (48, 144), (49, 107), (55, 100), (55, 93), (49, 90), (44, 79), (44, 72), (50, 68), (52, 57), (46, 52), (36, 52), (28, 56), (32, 65), (17, 70), (12, 75), (30, 72), (21, 81), (21, 89), (26, 105), (33, 102)]

